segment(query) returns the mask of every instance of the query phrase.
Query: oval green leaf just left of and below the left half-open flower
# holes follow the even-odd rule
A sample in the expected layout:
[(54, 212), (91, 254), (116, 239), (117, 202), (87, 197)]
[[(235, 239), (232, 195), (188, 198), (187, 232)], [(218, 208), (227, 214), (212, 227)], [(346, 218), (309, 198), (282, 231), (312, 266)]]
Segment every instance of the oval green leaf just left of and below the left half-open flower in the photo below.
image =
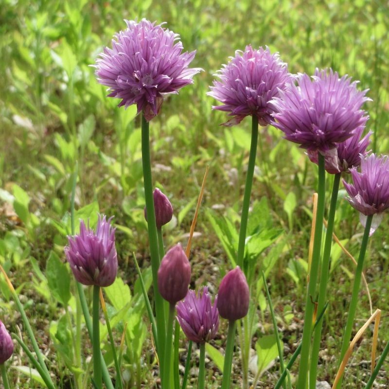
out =
[(50, 252), (46, 264), (47, 283), (54, 298), (66, 306), (71, 298), (70, 274), (67, 266), (62, 263), (54, 251)]

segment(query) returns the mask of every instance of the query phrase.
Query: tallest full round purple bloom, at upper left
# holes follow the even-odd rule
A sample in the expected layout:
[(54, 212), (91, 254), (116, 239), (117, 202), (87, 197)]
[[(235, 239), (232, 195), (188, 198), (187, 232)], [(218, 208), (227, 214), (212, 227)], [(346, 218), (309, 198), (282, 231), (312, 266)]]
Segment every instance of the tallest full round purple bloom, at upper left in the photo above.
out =
[(142, 19), (128, 21), (127, 29), (112, 39), (96, 60), (97, 80), (109, 88), (109, 97), (122, 99), (119, 106), (136, 104), (147, 121), (158, 115), (163, 96), (193, 84), (200, 68), (188, 68), (195, 51), (182, 53), (178, 35), (161, 24)]

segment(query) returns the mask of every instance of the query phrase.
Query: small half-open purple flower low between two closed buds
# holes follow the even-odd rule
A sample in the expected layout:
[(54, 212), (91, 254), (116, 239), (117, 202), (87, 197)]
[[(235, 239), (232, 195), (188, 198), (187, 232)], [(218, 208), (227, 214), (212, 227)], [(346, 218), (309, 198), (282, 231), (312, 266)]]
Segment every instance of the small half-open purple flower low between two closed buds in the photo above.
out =
[(197, 292), (197, 296), (194, 290), (189, 290), (185, 299), (177, 304), (177, 320), (189, 340), (205, 343), (216, 336), (219, 328), (216, 305), (217, 296), (212, 305), (206, 286)]

